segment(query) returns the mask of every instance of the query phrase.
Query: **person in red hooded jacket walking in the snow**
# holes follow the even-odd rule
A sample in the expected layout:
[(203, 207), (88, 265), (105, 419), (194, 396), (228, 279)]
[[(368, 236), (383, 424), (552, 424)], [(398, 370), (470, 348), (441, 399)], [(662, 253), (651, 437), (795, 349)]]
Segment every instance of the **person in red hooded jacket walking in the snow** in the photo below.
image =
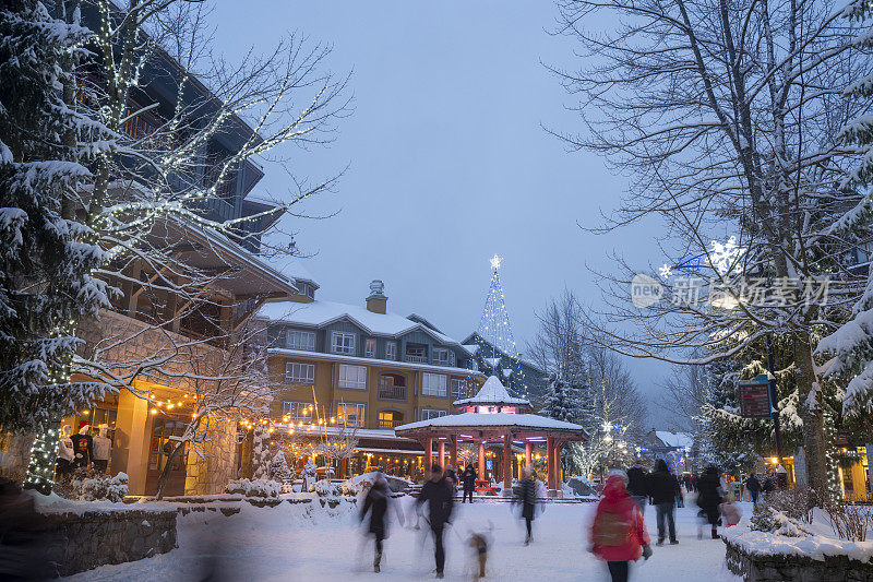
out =
[(626, 582), (631, 560), (651, 556), (649, 544), (639, 506), (627, 494), (624, 478), (611, 475), (597, 504), (590, 550), (607, 562), (612, 582)]

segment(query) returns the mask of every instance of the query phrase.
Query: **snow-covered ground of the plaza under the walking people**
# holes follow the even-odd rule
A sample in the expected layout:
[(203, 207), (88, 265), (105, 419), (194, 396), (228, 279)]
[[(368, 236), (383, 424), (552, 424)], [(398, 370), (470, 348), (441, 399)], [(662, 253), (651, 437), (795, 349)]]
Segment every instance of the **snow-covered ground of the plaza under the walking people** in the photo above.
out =
[[(399, 500), (410, 513), (408, 498)], [(395, 522), (385, 541), (382, 572), (372, 572), (372, 541), (361, 535), (355, 509), (328, 515), (321, 508), (284, 503), (274, 509), (246, 507), (237, 515), (189, 514), (179, 520), (179, 548), (137, 562), (105, 566), (71, 580), (386, 580), (432, 578), (433, 546), (422, 521), (419, 531)], [(743, 503), (744, 514), (750, 508)], [(493, 526), (488, 558), (490, 580), (607, 580), (606, 567), (588, 551), (587, 530), (595, 503), (546, 504), (535, 521), (535, 541), (523, 545), (522, 522), (510, 504), (480, 501), (458, 506), (454, 531), (446, 531), (446, 579), (469, 580), (473, 557), (468, 530)], [(655, 554), (632, 569), (632, 580), (737, 582), (723, 566), (725, 545), (697, 539), (696, 508), (677, 510), (678, 546), (653, 546)], [(655, 510), (646, 522), (657, 537)], [(409, 525), (407, 520), (407, 526)], [(708, 534), (708, 532), (706, 532)], [(215, 580), (215, 578), (213, 578)]]

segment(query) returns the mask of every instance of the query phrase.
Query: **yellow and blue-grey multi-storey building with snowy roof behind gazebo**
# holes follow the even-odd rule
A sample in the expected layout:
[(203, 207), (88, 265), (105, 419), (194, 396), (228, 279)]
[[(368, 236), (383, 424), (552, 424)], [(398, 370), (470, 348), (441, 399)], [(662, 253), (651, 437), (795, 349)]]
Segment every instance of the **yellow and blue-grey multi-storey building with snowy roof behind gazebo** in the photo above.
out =
[(396, 437), (394, 427), (452, 414), (452, 402), (485, 382), (469, 368), (467, 347), (420, 316), (390, 312), (381, 281), (360, 306), (313, 293), (306, 302), (268, 302), (258, 317), (267, 325), (274, 423), (313, 439), (357, 439), (355, 455), (336, 474), (381, 467), (420, 475), (423, 450)]

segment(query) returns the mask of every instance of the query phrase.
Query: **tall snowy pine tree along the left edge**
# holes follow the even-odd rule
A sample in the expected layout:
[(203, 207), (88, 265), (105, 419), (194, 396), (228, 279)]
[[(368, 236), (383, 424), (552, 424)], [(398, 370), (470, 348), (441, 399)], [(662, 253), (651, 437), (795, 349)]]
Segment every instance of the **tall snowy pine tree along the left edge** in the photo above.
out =
[[(108, 306), (92, 276), (105, 260), (73, 204), (104, 128), (74, 110), (71, 59), (91, 36), (41, 2), (0, 11), (0, 426), (38, 431), (27, 484), (48, 491), (57, 423), (103, 397), (99, 382), (70, 382), (76, 324)], [(80, 145), (86, 144), (86, 145)]]

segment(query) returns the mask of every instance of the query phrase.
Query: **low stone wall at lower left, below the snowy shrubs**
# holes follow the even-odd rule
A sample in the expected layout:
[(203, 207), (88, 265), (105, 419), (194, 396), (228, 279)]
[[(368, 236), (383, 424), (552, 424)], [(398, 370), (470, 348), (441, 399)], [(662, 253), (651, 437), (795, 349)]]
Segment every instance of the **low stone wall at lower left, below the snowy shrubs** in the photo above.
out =
[(40, 558), (53, 575), (70, 575), (166, 554), (176, 547), (176, 516), (175, 510), (38, 514), (46, 533)]

